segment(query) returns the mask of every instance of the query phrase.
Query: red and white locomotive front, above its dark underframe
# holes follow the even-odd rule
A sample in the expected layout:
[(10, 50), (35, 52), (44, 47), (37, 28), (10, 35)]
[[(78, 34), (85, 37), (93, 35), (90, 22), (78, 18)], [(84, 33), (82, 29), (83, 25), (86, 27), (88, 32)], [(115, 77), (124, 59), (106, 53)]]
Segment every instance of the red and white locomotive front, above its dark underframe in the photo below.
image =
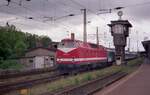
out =
[(57, 64), (72, 64), (78, 57), (76, 43), (72, 40), (62, 40), (56, 53)]

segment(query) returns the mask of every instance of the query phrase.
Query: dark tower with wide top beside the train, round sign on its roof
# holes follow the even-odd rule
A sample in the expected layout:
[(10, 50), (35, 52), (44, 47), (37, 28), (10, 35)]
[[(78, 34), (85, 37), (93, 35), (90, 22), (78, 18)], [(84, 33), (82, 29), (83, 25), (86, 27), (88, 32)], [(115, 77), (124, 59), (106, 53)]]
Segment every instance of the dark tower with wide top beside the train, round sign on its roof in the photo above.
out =
[(115, 46), (115, 58), (116, 65), (125, 65), (125, 46), (127, 43), (127, 37), (129, 36), (129, 28), (132, 27), (128, 20), (122, 20), (123, 12), (119, 11), (119, 20), (111, 21), (108, 26), (111, 29), (111, 35), (113, 36), (113, 42)]

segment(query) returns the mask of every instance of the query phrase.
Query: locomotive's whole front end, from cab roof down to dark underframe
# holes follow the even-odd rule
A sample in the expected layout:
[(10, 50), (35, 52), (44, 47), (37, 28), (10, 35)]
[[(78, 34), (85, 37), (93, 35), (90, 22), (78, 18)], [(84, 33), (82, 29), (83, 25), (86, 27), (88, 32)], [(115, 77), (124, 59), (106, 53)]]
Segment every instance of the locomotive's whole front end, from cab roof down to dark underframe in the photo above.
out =
[(69, 72), (76, 67), (76, 58), (78, 58), (78, 47), (76, 41), (70, 39), (64, 39), (58, 45), (56, 52), (57, 65), (61, 72)]

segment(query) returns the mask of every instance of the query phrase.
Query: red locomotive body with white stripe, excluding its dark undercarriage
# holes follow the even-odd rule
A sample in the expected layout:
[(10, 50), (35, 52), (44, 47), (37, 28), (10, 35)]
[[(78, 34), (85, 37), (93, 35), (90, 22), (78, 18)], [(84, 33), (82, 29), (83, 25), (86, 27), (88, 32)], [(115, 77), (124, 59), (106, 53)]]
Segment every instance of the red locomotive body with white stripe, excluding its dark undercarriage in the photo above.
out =
[(107, 61), (107, 51), (103, 46), (64, 39), (58, 45), (57, 64), (86, 65)]

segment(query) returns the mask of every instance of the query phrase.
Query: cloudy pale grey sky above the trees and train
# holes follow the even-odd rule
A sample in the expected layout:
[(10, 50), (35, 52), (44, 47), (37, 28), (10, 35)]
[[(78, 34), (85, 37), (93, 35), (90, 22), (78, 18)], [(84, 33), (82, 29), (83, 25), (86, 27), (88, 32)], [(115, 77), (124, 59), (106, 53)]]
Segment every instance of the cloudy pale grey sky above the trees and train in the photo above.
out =
[[(0, 0), (0, 25), (6, 22), (18, 30), (38, 35), (47, 35), (53, 41), (61, 41), (75, 33), (83, 40), (83, 12), (87, 9), (88, 42), (96, 43), (96, 27), (99, 27), (100, 44), (114, 47), (107, 24), (118, 20), (116, 7), (124, 7), (123, 20), (133, 25), (127, 38), (131, 51), (143, 51), (141, 41), (150, 36), (150, 0)], [(106, 9), (112, 9), (108, 13)], [(102, 11), (103, 10), (103, 11)], [(106, 11), (104, 11), (106, 10)], [(74, 16), (68, 16), (74, 14)]]

